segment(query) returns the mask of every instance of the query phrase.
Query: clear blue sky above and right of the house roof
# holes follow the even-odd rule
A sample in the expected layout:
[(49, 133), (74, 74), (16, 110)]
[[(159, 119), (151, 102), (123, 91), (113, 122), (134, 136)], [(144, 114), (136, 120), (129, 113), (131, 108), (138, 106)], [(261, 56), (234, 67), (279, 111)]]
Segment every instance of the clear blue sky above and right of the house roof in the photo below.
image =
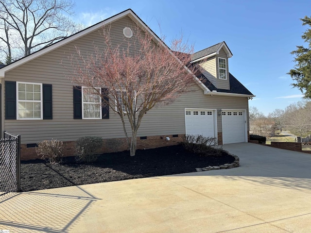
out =
[(286, 73), (311, 16), (306, 0), (75, 0), (75, 21), (90, 26), (131, 8), (169, 41), (183, 33), (195, 51), (225, 41), (233, 53), (229, 71), (256, 97), (249, 101), (267, 115), (302, 100)]

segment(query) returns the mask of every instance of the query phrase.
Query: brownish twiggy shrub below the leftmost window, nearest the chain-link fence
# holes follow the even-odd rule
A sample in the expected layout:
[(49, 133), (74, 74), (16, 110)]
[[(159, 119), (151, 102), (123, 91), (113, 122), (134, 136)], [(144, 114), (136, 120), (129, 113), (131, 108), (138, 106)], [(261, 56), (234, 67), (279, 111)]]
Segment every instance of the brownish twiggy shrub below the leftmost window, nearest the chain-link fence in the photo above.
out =
[(57, 139), (44, 140), (38, 143), (35, 149), (38, 156), (48, 160), (50, 164), (58, 164), (62, 162), (64, 143)]

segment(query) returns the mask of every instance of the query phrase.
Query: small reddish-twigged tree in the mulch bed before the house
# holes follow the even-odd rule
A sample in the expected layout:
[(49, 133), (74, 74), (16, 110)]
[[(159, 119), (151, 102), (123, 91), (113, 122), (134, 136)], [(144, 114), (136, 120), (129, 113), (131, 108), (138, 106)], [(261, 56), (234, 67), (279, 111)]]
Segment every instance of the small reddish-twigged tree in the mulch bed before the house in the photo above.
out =
[[(92, 89), (121, 117), (131, 156), (136, 152), (143, 116), (156, 105), (172, 103), (189, 91), (196, 70), (194, 66), (185, 66), (190, 62), (192, 47), (183, 43), (182, 38), (174, 39), (169, 49), (139, 27), (133, 34), (131, 39), (116, 45), (104, 28), (104, 47), (95, 47), (87, 55), (77, 48), (77, 54), (70, 59), (70, 68), (75, 70), (72, 81)], [(107, 91), (102, 93), (98, 87)], [(131, 134), (126, 124), (130, 124)]]

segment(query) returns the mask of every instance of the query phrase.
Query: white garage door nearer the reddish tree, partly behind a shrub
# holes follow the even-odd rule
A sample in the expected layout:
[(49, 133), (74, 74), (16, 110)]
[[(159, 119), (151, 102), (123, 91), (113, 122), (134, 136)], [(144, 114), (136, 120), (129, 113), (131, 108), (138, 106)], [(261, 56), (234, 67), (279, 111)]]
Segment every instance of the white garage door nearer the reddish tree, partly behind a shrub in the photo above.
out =
[(186, 134), (215, 137), (215, 117), (212, 109), (185, 109)]

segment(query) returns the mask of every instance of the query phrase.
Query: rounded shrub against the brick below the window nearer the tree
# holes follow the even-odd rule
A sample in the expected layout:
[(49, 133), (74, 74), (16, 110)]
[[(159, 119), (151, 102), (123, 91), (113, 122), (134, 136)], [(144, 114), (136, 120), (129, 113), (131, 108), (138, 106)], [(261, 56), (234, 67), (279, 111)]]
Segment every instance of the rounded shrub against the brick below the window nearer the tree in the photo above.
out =
[(98, 150), (103, 145), (101, 137), (86, 136), (81, 137), (76, 141), (75, 151), (77, 160), (86, 163), (93, 163), (97, 160)]

